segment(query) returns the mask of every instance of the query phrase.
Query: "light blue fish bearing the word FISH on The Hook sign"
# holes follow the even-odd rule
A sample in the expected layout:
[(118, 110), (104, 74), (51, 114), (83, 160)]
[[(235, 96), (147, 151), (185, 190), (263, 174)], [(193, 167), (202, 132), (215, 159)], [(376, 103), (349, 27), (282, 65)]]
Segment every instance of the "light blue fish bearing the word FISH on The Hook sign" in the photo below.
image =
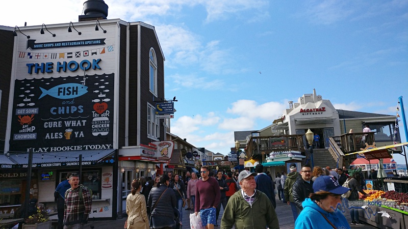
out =
[(38, 99), (41, 99), (46, 95), (52, 96), (57, 99), (72, 99), (82, 96), (88, 92), (88, 87), (79, 83), (64, 83), (49, 90), (45, 90), (41, 87), (40, 89), (42, 91), (42, 94)]

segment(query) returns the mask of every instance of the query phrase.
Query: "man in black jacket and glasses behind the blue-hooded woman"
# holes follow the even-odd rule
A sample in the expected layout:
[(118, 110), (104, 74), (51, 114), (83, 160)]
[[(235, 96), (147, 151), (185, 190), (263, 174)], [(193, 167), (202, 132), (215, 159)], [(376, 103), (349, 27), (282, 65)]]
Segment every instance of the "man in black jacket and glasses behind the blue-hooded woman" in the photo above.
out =
[(302, 203), (305, 198), (308, 198), (310, 193), (313, 193), (312, 168), (310, 165), (303, 165), (300, 170), (301, 178), (297, 178), (292, 187), (293, 199), (296, 206), (303, 210)]

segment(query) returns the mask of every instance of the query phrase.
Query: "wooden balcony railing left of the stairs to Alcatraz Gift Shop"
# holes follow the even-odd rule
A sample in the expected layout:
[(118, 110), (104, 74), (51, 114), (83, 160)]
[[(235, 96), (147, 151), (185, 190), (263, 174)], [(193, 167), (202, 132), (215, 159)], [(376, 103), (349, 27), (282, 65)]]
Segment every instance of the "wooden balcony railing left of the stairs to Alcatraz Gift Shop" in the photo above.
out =
[(303, 135), (277, 135), (260, 136), (249, 139), (246, 153), (248, 158), (257, 158), (264, 152), (269, 154), (272, 151), (299, 151), (304, 153)]

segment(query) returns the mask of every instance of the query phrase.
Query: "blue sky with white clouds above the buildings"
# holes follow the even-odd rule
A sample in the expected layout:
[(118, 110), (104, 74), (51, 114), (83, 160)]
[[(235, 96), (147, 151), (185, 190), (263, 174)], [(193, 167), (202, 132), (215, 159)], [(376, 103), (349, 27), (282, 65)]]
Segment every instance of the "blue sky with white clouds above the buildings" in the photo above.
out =
[[(84, 2), (7, 1), (0, 24), (77, 22)], [(179, 100), (171, 132), (196, 147), (226, 154), (234, 131), (270, 125), (314, 88), (337, 109), (408, 106), (407, 1), (105, 2), (108, 19), (155, 26), (165, 97)]]

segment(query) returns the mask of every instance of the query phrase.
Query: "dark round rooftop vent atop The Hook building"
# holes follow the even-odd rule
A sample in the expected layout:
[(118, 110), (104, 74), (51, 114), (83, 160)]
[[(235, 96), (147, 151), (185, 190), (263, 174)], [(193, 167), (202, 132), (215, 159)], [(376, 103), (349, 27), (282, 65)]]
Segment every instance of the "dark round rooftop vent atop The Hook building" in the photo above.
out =
[(107, 19), (108, 5), (103, 0), (88, 0), (84, 3), (84, 15), (78, 17), (79, 21), (94, 21)]

